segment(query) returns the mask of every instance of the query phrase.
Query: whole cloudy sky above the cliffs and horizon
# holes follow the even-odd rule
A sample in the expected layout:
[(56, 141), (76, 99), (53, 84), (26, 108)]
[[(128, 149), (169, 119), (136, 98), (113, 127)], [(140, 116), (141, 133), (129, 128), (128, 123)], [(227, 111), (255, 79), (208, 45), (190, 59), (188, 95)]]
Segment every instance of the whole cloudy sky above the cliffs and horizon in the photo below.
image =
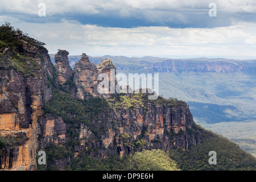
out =
[[(39, 16), (42, 3), (46, 16)], [(0, 0), (0, 5), (1, 24), (10, 22), (46, 43), (49, 53), (256, 59), (255, 0)]]

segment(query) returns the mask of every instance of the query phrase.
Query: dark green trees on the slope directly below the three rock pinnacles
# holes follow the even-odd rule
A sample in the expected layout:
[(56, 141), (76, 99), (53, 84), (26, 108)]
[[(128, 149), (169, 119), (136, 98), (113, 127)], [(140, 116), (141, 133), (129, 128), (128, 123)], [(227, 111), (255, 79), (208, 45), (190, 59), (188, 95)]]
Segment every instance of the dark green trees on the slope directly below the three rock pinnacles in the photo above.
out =
[(81, 100), (56, 89), (53, 89), (51, 101), (44, 104), (44, 113), (60, 116), (65, 123), (71, 124), (68, 134), (73, 137), (76, 137), (76, 129), (84, 123), (100, 139), (100, 136), (107, 131), (106, 126), (96, 127), (93, 126), (93, 122), (100, 121), (101, 114), (108, 110), (109, 103), (104, 98), (92, 97), (88, 100)]

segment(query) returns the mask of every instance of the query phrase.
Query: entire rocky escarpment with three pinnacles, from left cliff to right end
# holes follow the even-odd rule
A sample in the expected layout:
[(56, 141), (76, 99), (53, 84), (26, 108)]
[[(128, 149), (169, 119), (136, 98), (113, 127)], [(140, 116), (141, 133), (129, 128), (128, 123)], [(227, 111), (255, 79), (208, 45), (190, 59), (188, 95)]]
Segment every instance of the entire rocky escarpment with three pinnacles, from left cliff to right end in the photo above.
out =
[(102, 159), (143, 149), (186, 150), (203, 140), (205, 130), (195, 125), (183, 101), (99, 93), (101, 73), (116, 85), (111, 60), (95, 65), (83, 53), (72, 71), (67, 51), (59, 50), (53, 65), (43, 43), (6, 30), (17, 45), (1, 40), (0, 169), (34, 170), (40, 150), (46, 151), (47, 166), (65, 169), (82, 155)]

